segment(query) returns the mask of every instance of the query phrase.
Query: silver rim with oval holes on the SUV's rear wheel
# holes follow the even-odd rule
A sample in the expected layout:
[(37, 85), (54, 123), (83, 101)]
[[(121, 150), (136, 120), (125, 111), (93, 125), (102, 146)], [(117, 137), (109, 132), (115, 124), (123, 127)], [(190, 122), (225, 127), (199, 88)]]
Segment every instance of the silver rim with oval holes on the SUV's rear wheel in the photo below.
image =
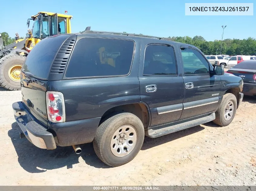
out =
[(110, 142), (111, 152), (117, 157), (128, 155), (137, 142), (137, 131), (131, 125), (119, 127), (113, 134)]

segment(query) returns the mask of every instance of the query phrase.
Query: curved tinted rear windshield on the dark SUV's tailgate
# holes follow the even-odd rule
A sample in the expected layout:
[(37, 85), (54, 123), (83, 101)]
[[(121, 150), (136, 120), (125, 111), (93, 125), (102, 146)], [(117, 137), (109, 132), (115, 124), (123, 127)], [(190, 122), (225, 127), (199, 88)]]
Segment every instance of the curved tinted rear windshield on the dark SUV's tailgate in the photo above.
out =
[(37, 78), (46, 80), (60, 46), (68, 37), (66, 34), (48, 37), (36, 44), (28, 54), (22, 72), (29, 72)]

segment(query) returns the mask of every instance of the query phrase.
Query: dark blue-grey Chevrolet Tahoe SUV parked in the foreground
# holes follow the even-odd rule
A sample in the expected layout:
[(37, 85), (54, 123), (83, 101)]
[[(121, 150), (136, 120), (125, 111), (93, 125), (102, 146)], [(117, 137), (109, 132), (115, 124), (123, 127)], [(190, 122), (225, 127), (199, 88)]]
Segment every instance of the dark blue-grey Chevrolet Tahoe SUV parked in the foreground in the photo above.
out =
[(32, 49), (22, 66), (22, 101), (12, 108), (35, 146), (72, 145), (80, 153), (79, 144), (93, 142), (104, 163), (119, 166), (138, 154), (144, 135), (230, 124), (242, 83), (189, 44), (84, 31), (47, 37)]

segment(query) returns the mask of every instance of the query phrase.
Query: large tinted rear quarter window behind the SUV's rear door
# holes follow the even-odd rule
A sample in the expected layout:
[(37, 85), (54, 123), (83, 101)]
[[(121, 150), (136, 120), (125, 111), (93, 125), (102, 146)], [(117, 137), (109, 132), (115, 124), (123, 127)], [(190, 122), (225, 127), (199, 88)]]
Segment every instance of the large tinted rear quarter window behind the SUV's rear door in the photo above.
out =
[(130, 72), (135, 43), (131, 40), (83, 38), (73, 50), (67, 78), (117, 76)]

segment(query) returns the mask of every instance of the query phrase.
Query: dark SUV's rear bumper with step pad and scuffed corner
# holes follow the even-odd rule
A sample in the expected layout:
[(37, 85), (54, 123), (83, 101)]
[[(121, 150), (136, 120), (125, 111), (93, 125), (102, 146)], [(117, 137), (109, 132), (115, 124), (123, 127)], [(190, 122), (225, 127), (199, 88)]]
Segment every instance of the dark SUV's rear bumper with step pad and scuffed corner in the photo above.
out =
[(55, 149), (56, 143), (52, 133), (39, 124), (38, 120), (31, 115), (21, 101), (12, 104), (14, 118), (20, 126), (26, 138), (39, 148)]

